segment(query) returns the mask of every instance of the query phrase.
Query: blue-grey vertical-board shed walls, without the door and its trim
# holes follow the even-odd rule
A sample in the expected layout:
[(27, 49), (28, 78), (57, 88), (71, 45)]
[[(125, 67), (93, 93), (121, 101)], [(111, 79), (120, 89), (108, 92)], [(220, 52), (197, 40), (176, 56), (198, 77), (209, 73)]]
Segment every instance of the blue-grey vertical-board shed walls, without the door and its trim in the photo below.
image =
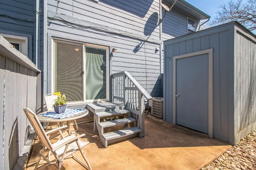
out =
[(213, 49), (213, 137), (234, 144), (256, 127), (256, 37), (236, 22), (164, 41), (164, 119), (173, 121), (173, 57)]

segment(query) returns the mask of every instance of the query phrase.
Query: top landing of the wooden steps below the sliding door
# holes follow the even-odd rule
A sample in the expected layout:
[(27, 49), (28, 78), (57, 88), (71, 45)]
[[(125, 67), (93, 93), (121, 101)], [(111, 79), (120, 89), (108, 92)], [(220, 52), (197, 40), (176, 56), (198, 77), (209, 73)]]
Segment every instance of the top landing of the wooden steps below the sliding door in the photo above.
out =
[(86, 108), (92, 111), (92, 113), (98, 113), (103, 111), (114, 111), (124, 109), (124, 104), (117, 104), (113, 102), (96, 102), (87, 104)]

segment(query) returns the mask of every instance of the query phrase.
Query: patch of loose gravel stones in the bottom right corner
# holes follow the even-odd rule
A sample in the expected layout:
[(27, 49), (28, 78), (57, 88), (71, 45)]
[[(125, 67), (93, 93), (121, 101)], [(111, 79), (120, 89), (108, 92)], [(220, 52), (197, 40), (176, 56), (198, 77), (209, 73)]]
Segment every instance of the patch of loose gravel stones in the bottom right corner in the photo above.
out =
[(256, 170), (256, 129), (201, 170)]

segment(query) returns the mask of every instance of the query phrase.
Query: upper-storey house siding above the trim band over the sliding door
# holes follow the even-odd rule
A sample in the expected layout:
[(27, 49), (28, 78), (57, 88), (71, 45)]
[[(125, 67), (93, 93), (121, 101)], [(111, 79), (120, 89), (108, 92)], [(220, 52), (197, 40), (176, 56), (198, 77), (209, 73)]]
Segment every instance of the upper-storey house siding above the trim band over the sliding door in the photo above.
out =
[[(56, 11), (58, 1), (48, 2), (48, 10)], [(126, 4), (127, 3), (127, 4)], [(132, 4), (136, 3), (136, 7)], [(153, 5), (155, 4), (155, 5)], [(152, 2), (154, 8), (150, 9), (148, 5), (142, 4), (137, 1), (131, 2), (118, 2), (118, 1), (108, 1), (108, 2), (92, 2), (92, 1), (82, 1), (78, 0), (70, 4), (68, 0), (61, 1), (59, 3), (58, 12), (72, 16), (74, 18), (91, 21), (95, 23), (100, 23), (108, 27), (114, 27), (116, 29), (125, 30), (130, 33), (144, 35), (144, 29), (149, 29), (153, 31), (150, 35), (151, 38), (159, 39), (159, 26), (157, 26), (159, 20), (158, 10), (154, 9), (159, 4), (157, 2)], [(124, 12), (124, 8), (126, 12)], [(158, 8), (159, 9), (159, 8)], [(136, 15), (134, 12), (141, 11), (143, 15)], [(156, 12), (156, 18), (148, 21), (151, 14)], [(146, 27), (145, 23), (148, 21)], [(154, 23), (152, 23), (152, 21)]]

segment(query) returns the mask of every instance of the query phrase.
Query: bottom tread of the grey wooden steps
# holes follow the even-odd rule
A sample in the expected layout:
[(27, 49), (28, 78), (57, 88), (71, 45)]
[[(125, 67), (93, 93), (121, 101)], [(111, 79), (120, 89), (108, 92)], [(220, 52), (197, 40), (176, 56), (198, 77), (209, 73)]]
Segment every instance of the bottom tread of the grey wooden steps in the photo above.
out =
[(131, 128), (127, 128), (127, 129), (123, 129), (123, 130), (119, 130), (119, 131), (104, 133), (104, 134), (102, 134), (102, 136), (104, 137), (104, 139), (106, 141), (108, 141), (108, 140), (111, 140), (111, 139), (125, 137), (125, 136), (128, 136), (128, 135), (133, 135), (135, 133), (140, 133), (140, 132), (141, 132), (140, 128), (131, 127)]

